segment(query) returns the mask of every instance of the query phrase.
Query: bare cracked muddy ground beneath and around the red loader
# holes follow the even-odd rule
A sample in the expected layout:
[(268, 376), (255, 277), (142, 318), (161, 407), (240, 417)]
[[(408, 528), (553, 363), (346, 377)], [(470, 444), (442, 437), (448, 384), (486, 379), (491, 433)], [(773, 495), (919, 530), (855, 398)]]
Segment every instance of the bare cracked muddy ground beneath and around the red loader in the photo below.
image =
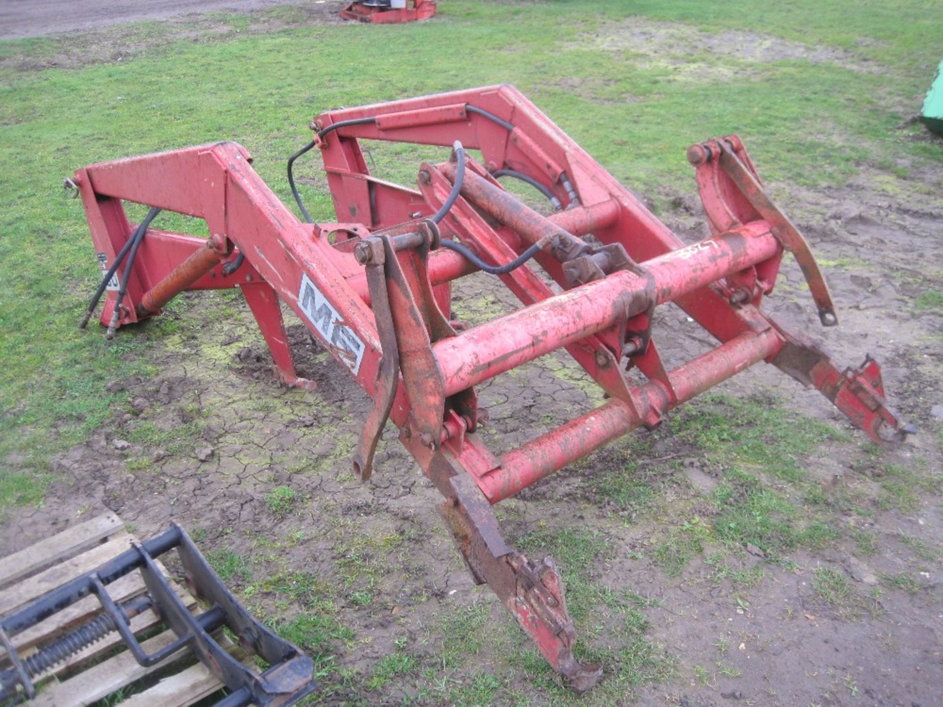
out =
[[(834, 503), (846, 539), (822, 551), (791, 552), (788, 563), (742, 549), (729, 560), (733, 568), (761, 567), (764, 575), (747, 590), (718, 576), (709, 548), (679, 576), (669, 576), (655, 561), (654, 546), (673, 524), (718, 513), (709, 498), (724, 468), (665, 431), (637, 433), (651, 453), (639, 461), (637, 473), (658, 498), (654, 512), (627, 512), (598, 493), (602, 476), (623, 473), (631, 450), (620, 442), (503, 503), (505, 535), (514, 542), (555, 523), (599, 534), (611, 551), (591, 567), (594, 581), (660, 600), (648, 614), (651, 635), (676, 666), (667, 682), (640, 687), (627, 701), (686, 707), (941, 705), (940, 499), (919, 492), (916, 504), (888, 506), (882, 503), (882, 482), (889, 465), (920, 466), (935, 475), (941, 469), (940, 421), (932, 410), (943, 403), (938, 337), (943, 319), (913, 301), (927, 288), (940, 287), (943, 176), (916, 173), (892, 182), (884, 173), (865, 172), (841, 189), (773, 189), (826, 263), (841, 325), (818, 329), (801, 274), (791, 263), (765, 309), (787, 327), (818, 336), (839, 362), (856, 365), (863, 354), (873, 354), (885, 366), (885, 386), (902, 418), (921, 428), (878, 462), (865, 437), (851, 432), (817, 391), (803, 390), (778, 370), (761, 364), (720, 386), (734, 397), (775, 396), (789, 409), (849, 433), (800, 460)], [(705, 235), (693, 194), (692, 179), (691, 192), (673, 195), (675, 209), (666, 216), (688, 240)], [(368, 484), (350, 473), (351, 451), (370, 401), (333, 359), (293, 321), (300, 372), (318, 388), (281, 388), (251, 316), (238, 305), (221, 319), (214, 315), (220, 304), (212, 295), (195, 293), (167, 315), (181, 326), (167, 337), (156, 362), (163, 372), (151, 380), (114, 382), (128, 392), (127, 409), (87, 443), (58, 457), (61, 481), (43, 507), (10, 512), (0, 554), (105, 509), (133, 523), (141, 537), (176, 519), (200, 531), (207, 553), (247, 558), (244, 572), (230, 581), (238, 591), (255, 587), (243, 599), (256, 611), (284, 612), (267, 599), (259, 576), (303, 571), (321, 578), (324, 591), (328, 586), (339, 591), (339, 620), (354, 627), (357, 638), (335, 649), (338, 665), (354, 675), (370, 674), (401, 636), (421, 662), (434, 659), (441, 617), (463, 607), (484, 605), (489, 626), (511, 625), (515, 631), (488, 590), (472, 584), (438, 517), (438, 493), (393, 431), (388, 430)], [(514, 306), (513, 297), (484, 275), (455, 288), (461, 319), (479, 321)], [(705, 346), (703, 332), (677, 309), (659, 313), (656, 336), (670, 364)], [(489, 413), (485, 434), (497, 451), (599, 403), (598, 393), (561, 355), (480, 388), (480, 404)], [(719, 408), (724, 412), (720, 403)], [(280, 486), (298, 493), (287, 510), (270, 501)], [(843, 505), (848, 500), (853, 502)], [(679, 507), (687, 516), (677, 513)], [(859, 531), (872, 538), (867, 550), (849, 539)], [(919, 538), (933, 551), (921, 555), (905, 538)], [(847, 578), (860, 602), (825, 600), (813, 586), (821, 567)], [(880, 578), (902, 575), (913, 578), (906, 588), (885, 584), (883, 592), (871, 591)], [(364, 603), (363, 592), (372, 601)], [(605, 631), (593, 640), (604, 645)], [(519, 638), (513, 641), (513, 649), (525, 647)], [(497, 662), (498, 656), (483, 652), (468, 665), (488, 670)], [(526, 674), (510, 680), (532, 695), (527, 701), (549, 703), (533, 697)], [(366, 697), (345, 689), (338, 688), (330, 703), (359, 697), (398, 704), (416, 695), (407, 681)]]

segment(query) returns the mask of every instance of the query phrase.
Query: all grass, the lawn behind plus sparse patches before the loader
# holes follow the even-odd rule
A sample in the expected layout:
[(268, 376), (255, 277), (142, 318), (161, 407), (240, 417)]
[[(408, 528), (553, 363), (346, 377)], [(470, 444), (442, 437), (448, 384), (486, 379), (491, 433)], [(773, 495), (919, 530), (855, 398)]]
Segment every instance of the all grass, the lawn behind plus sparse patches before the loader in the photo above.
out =
[[(290, 203), (285, 159), (310, 139), (306, 125), (312, 115), (508, 82), (620, 181), (646, 195), (658, 214), (669, 213), (679, 193), (694, 189), (687, 146), (731, 132), (745, 140), (763, 177), (787, 202), (793, 194), (845, 189), (862, 173), (880, 184), (883, 198), (908, 189), (930, 194), (930, 187), (914, 185), (932, 184), (924, 179), (928, 174), (937, 175), (938, 184), (943, 169), (939, 141), (925, 139), (922, 126), (910, 122), (940, 58), (938, 2), (442, 0), (438, 19), (421, 25), (311, 25), (306, 17), (303, 8), (283, 6), (214, 14), (194, 20), (199, 31), (189, 34), (180, 23), (149, 22), (0, 42), (0, 518), (41, 507), (60, 481), (51, 460), (129, 409), (129, 393), (109, 392), (108, 384), (157, 377), (155, 362), (168, 341), (199, 332), (214, 307), (244, 318), (237, 296), (216, 293), (206, 296), (214, 307), (195, 318), (182, 316), (189, 302), (175, 303), (169, 316), (123, 331), (113, 342), (94, 326), (76, 328), (99, 271), (81, 204), (67, 199), (61, 184), (91, 162), (237, 140), (255, 157), (256, 171)], [(118, 60), (109, 54), (112, 47), (130, 49)], [(99, 55), (105, 58), (89, 58)], [(416, 156), (396, 150), (376, 156), (381, 175), (415, 180)], [(317, 173), (313, 163), (306, 170)], [(303, 192), (316, 220), (333, 220), (328, 194), (317, 186)], [(174, 217), (160, 226), (194, 227)], [(876, 262), (881, 255), (855, 257)], [(862, 262), (835, 255), (829, 267), (848, 271)], [(916, 289), (904, 306), (938, 321), (943, 265), (937, 260), (915, 268), (908, 277)], [(919, 336), (921, 351), (940, 344), (938, 333), (920, 330)], [(933, 376), (938, 374), (935, 369)], [(924, 390), (938, 390), (939, 378), (927, 375)], [(918, 384), (913, 386), (918, 395)], [(932, 401), (920, 400), (920, 409), (929, 409)], [(289, 405), (296, 414), (308, 403), (273, 397), (237, 404), (269, 405), (278, 414), (280, 405)], [(202, 429), (199, 416), (197, 404), (189, 427), (140, 425), (128, 438), (144, 448), (182, 453)], [(620, 448), (618, 463), (635, 475), (590, 477), (587, 488), (622, 518), (622, 527), (637, 517), (671, 518), (670, 525), (652, 531), (639, 558), (650, 558), (670, 584), (678, 577), (687, 581), (686, 568), (702, 558), (702, 579), (733, 586), (732, 596), (749, 612), (751, 592), (763, 583), (764, 572), (795, 570), (794, 555), (839, 545), (857, 548), (861, 556), (878, 552), (877, 535), (847, 518), (916, 517), (927, 500), (938, 516), (941, 488), (933, 460), (943, 433), (938, 423), (929, 428), (931, 441), (923, 443), (913, 464), (902, 466), (897, 458), (855, 446), (854, 463), (880, 474), (873, 487), (836, 498), (822, 490), (809, 467), (822, 450), (851, 449), (848, 432), (831, 421), (805, 418), (781, 400), (719, 395), (680, 414), (666, 431)], [(664, 456), (659, 444), (680, 445), (669, 448), (675, 456), (694, 450), (706, 466), (723, 469), (720, 485), (702, 500), (708, 513), (701, 501), (672, 504), (664, 478), (679, 470), (678, 463), (646, 467), (634, 461)], [(322, 465), (316, 469), (321, 473), (343, 458), (338, 453), (311, 464)], [(124, 468), (138, 472), (147, 466), (141, 457)], [(259, 507), (279, 522), (299, 518), (314, 502), (274, 480), (262, 493)], [(515, 505), (507, 511), (512, 520), (519, 512)], [(375, 703), (395, 688), (397, 703), (578, 703), (533, 651), (522, 648), (509, 619), (496, 619), (482, 602), (422, 625), (424, 653), (413, 650), (422, 631), (409, 625), (402, 633), (408, 640), (397, 635), (372, 663), (338, 667), (338, 654), (356, 653), (372, 640), (355, 621), (335, 617), (340, 607), (372, 611), (379, 601), (374, 586), (420, 570), (400, 554), (415, 538), (399, 530), (374, 534), (345, 525), (354, 522), (347, 518), (331, 522), (328, 542), (348, 561), (336, 564), (326, 584), (294, 568), (271, 569), (275, 556), (297, 547), (304, 533), (253, 538), (258, 544), (251, 551), (249, 540), (233, 550), (219, 534), (211, 555), (243, 599), (276, 598), (258, 607), (270, 612), (282, 633), (317, 651), (329, 688), (324, 699)], [(696, 692), (735, 680), (736, 646), (733, 655), (727, 652), (729, 638), (710, 639), (709, 660), (680, 663), (677, 650), (652, 639), (659, 601), (637, 586), (601, 579), (599, 567), (618, 566), (633, 559), (634, 551), (613, 550), (604, 533), (615, 526), (600, 527), (557, 532), (532, 525), (520, 541), (535, 554), (553, 551), (561, 567), (568, 567), (571, 609), (587, 635), (587, 657), (618, 666), (587, 703), (621, 704), (638, 695), (654, 700), (653, 692), (644, 691), (653, 684), (689, 682), (693, 687), (687, 689)], [(899, 573), (882, 575), (871, 594), (832, 568), (809, 570), (809, 586), (841, 617), (872, 616), (880, 600), (875, 592), (906, 598), (916, 586), (918, 594), (917, 568), (939, 571), (939, 543), (903, 536), (909, 540), (895, 540), (894, 547), (916, 559)], [(767, 564), (744, 563), (747, 546), (762, 551)], [(385, 556), (400, 558), (389, 572), (359, 562)], [(493, 628), (501, 621), (508, 625)], [(614, 643), (594, 645), (607, 633), (615, 634)], [(837, 685), (833, 696), (852, 699), (857, 693), (853, 677), (841, 671), (829, 680)], [(774, 703), (771, 696), (766, 700), (753, 703)]]

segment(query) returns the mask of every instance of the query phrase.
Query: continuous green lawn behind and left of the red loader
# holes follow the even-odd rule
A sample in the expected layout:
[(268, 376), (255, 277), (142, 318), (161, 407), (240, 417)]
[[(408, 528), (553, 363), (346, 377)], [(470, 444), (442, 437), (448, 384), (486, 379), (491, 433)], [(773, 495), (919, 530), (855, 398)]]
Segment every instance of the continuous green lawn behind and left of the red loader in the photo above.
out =
[[(266, 14), (298, 22), (291, 8)], [(847, 57), (761, 63), (693, 48), (681, 57), (651, 58), (597, 41), (631, 27), (635, 14), (681, 23), (688, 33), (753, 30)], [(124, 394), (108, 393), (108, 381), (153, 375), (161, 342), (189, 326), (164, 318), (110, 343), (95, 326), (75, 328), (98, 271), (81, 205), (64, 199), (59, 185), (91, 162), (236, 138), (287, 201), (284, 160), (307, 140), (312, 114), (499, 81), (524, 90), (618, 178), (652, 193), (658, 208), (673, 193), (694, 189), (687, 145), (732, 129), (771, 182), (841, 183), (865, 164), (906, 172), (907, 165), (927, 164), (935, 149), (907, 140), (919, 126), (899, 128), (916, 110), (937, 58), (934, 30), (943, 24), (943, 9), (922, 0), (865, 7), (854, 0), (826, 6), (812, 0), (451, 0), (433, 23), (290, 26), (269, 33), (254, 31), (250, 15), (217, 13), (213, 19), (240, 31), (194, 42), (165, 23), (123, 25), (109, 36), (146, 43), (141, 56), (71, 70), (17, 69), (75, 52), (68, 39), (0, 42), (0, 59), (8, 61), (0, 68), (0, 168), (6, 175), (0, 271), (8, 273), (0, 279), (0, 508), (39, 502), (50, 455), (84, 440), (122, 408)], [(300, 56), (308, 59), (301, 67)], [(373, 60), (380, 56), (410, 60)], [(456, 56), (462, 60), (455, 62)], [(706, 73), (689, 80), (671, 63), (678, 59)], [(873, 71), (855, 68), (869, 62)], [(374, 154), (380, 173), (408, 183), (420, 154), (440, 152)], [(301, 172), (319, 170), (309, 162)], [(333, 218), (326, 194), (302, 189), (316, 218)], [(173, 215), (162, 216), (159, 225), (192, 228)], [(938, 310), (938, 295), (927, 292), (915, 306)], [(759, 444), (743, 439), (743, 453), (761, 455)], [(25, 461), (4, 461), (22, 452), (28, 452)], [(779, 473), (795, 473), (787, 460), (768, 461)]]

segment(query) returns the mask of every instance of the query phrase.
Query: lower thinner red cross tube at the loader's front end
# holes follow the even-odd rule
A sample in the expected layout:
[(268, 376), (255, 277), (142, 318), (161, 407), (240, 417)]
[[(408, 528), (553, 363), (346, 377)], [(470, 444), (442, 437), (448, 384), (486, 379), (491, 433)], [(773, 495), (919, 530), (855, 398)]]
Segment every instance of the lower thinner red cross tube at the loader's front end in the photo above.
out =
[(501, 466), (478, 478), (478, 485), (491, 503), (503, 501), (557, 469), (563, 469), (631, 432), (650, 415), (661, 416), (738, 371), (777, 354), (782, 345), (782, 337), (771, 328), (759, 334), (741, 334), (670, 371), (671, 386), (677, 394), (675, 400), (671, 400), (669, 391), (657, 381), (639, 386), (633, 390), (638, 414), (627, 403), (609, 401), (546, 435), (538, 436), (521, 448), (507, 452), (502, 457)]

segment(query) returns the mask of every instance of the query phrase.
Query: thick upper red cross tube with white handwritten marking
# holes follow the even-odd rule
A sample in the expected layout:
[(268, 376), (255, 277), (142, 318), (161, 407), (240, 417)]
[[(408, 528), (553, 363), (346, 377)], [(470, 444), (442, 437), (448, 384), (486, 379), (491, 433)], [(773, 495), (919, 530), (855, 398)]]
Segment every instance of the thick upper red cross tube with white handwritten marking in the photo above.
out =
[[(446, 394), (602, 331), (626, 316), (703, 288), (775, 255), (766, 222), (753, 222), (644, 263), (645, 274), (619, 271), (488, 321), (433, 348)], [(646, 276), (647, 275), (647, 276)], [(650, 290), (653, 287), (653, 291)]]

